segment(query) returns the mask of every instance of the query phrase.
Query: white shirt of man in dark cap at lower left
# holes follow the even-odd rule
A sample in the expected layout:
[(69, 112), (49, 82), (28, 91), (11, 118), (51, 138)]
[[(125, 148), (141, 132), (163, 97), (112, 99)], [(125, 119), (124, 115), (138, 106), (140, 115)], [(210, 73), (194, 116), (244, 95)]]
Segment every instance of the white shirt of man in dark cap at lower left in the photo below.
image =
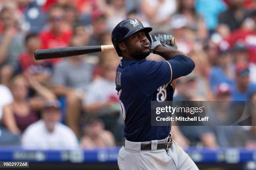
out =
[(73, 131), (60, 122), (54, 131), (46, 130), (44, 120), (38, 120), (28, 126), (21, 138), (21, 145), (26, 149), (75, 149), (79, 147)]

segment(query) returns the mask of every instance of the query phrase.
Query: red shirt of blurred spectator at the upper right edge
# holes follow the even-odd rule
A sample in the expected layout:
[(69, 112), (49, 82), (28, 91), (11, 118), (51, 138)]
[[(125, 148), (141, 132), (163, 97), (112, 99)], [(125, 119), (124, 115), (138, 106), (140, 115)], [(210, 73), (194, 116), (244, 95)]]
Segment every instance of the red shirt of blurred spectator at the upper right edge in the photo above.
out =
[(256, 63), (256, 30), (234, 30), (230, 35), (228, 42), (231, 47), (236, 44), (238, 40), (242, 40), (249, 52), (249, 60)]

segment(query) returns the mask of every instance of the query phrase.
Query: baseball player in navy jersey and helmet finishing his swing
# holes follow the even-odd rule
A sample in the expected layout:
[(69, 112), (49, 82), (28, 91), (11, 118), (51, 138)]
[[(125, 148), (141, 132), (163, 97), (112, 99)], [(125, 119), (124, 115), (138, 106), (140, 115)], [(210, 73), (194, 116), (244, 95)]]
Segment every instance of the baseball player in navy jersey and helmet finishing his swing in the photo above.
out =
[[(118, 154), (121, 170), (198, 170), (187, 153), (172, 140), (171, 126), (151, 126), (151, 101), (171, 101), (173, 80), (188, 75), (195, 63), (172, 35), (149, 35), (134, 18), (120, 22), (112, 32), (116, 52), (123, 57), (116, 72), (116, 90), (125, 121), (125, 142)], [(153, 52), (165, 61), (148, 61)]]

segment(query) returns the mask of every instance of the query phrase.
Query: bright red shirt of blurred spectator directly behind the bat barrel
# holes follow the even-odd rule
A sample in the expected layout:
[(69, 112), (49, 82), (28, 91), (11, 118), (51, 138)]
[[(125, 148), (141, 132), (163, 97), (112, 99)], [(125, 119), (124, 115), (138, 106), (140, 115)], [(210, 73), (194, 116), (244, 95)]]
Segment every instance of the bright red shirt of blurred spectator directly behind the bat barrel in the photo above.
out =
[[(71, 37), (72, 37), (72, 31), (70, 30), (61, 32), (59, 35), (54, 35), (50, 30), (43, 31), (40, 34), (40, 38), (42, 42), (41, 49), (68, 47)], [(55, 58), (55, 59), (51, 59), (50, 61), (53, 64), (55, 64), (60, 60), (61, 58)]]

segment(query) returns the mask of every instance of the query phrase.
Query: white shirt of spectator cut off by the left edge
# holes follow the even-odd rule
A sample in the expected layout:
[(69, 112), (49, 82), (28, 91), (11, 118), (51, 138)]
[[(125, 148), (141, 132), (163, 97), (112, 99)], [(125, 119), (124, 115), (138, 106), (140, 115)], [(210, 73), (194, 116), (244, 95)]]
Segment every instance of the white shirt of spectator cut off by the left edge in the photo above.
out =
[(5, 85), (0, 85), (0, 120), (3, 116), (3, 106), (13, 102), (13, 95)]

